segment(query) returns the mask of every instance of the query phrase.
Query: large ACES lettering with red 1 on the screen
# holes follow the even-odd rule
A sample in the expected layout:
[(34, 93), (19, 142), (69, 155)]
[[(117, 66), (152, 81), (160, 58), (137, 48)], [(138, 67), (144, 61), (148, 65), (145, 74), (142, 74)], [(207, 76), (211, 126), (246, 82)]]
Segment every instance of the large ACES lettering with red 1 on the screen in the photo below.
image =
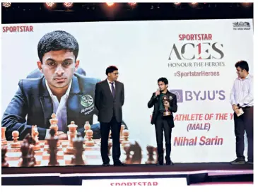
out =
[(173, 45), (168, 60), (223, 59), (223, 44), (218, 42), (187, 42), (184, 45)]

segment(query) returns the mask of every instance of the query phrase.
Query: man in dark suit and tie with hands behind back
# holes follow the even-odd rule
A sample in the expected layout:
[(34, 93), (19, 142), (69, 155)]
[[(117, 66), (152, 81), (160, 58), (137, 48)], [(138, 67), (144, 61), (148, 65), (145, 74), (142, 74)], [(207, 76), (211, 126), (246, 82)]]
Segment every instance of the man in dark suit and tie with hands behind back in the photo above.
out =
[(108, 135), (112, 133), (112, 158), (115, 166), (124, 166), (119, 158), (120, 151), (120, 128), (122, 122), (122, 106), (124, 105), (124, 84), (117, 81), (118, 69), (109, 66), (106, 69), (107, 79), (97, 83), (95, 87), (95, 107), (98, 109), (98, 121), (100, 122), (101, 134), (101, 157), (103, 166), (110, 165), (107, 154)]

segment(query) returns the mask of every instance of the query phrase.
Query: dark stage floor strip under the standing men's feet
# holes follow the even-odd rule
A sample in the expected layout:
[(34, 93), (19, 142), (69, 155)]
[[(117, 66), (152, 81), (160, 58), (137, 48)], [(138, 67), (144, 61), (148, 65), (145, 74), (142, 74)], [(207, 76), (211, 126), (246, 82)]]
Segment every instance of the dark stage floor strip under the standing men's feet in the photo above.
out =
[(66, 167), (2, 167), (2, 175), (19, 174), (83, 174), (93, 175), (156, 175), (161, 174), (191, 174), (190, 172), (208, 172), (215, 175), (230, 175), (235, 173), (253, 172), (253, 165), (230, 165), (229, 162), (209, 162), (209, 163), (175, 163), (175, 165), (127, 165), (125, 167), (102, 167), (102, 165), (83, 165)]

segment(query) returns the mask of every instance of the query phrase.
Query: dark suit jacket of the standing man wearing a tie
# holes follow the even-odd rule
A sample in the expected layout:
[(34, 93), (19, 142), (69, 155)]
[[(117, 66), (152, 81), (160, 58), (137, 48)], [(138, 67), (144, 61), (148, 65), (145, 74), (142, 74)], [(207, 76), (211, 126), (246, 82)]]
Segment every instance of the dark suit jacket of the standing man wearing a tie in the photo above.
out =
[(95, 107), (98, 109), (98, 121), (110, 122), (113, 114), (117, 122), (122, 122), (124, 105), (124, 84), (115, 81), (115, 98), (113, 98), (107, 79), (97, 83), (95, 88)]

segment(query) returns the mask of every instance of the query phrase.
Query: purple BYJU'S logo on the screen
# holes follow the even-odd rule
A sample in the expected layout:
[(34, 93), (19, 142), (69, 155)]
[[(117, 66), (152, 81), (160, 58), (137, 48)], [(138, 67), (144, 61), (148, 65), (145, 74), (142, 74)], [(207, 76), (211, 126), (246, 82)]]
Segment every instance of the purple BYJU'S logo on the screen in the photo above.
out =
[(177, 96), (177, 102), (225, 100), (225, 90), (170, 90)]

